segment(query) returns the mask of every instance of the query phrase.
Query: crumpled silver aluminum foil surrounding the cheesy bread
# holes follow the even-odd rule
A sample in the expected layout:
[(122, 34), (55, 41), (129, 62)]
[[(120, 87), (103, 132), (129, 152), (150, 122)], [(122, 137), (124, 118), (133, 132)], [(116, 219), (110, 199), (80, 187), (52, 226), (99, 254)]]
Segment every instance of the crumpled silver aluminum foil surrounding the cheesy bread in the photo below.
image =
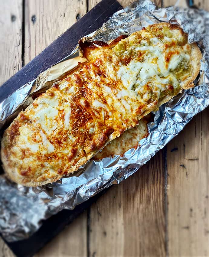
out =
[[(130, 149), (123, 157), (89, 161), (85, 166), (59, 181), (41, 187), (23, 187), (0, 176), (0, 232), (7, 241), (25, 239), (40, 226), (41, 220), (66, 208), (72, 210), (93, 195), (136, 172), (143, 164), (174, 138), (184, 126), (209, 104), (209, 13), (177, 6), (158, 8), (142, 0), (116, 12), (103, 26), (83, 40), (109, 42), (121, 34), (131, 34), (149, 24), (166, 21), (179, 24), (188, 33), (189, 42), (198, 42), (203, 52), (201, 72), (192, 89), (171, 99), (155, 112), (149, 136), (140, 147)], [(40, 76), (27, 83), (0, 103), (0, 129), (32, 101), (34, 93), (57, 83), (78, 61), (77, 46), (73, 53)]]

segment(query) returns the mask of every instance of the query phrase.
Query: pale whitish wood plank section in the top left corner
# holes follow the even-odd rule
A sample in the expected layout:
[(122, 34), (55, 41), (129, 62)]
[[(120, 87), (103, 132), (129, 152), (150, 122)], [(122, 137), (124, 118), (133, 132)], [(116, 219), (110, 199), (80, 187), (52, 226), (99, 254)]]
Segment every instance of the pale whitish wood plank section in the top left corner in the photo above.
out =
[(1, 1), (0, 8), (0, 85), (22, 66), (22, 0)]

